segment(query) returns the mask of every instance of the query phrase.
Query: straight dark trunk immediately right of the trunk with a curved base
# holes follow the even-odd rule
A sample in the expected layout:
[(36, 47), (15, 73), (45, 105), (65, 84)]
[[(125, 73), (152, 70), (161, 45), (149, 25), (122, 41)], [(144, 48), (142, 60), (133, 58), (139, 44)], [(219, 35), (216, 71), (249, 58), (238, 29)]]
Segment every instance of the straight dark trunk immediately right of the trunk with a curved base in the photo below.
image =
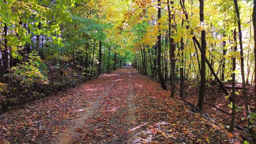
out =
[[(173, 2), (171, 2), (171, 4), (173, 4)], [(173, 38), (172, 36), (172, 15), (170, 12), (170, 5), (169, 5), (169, 0), (167, 0), (167, 8), (168, 8), (168, 22), (169, 22), (169, 55), (170, 55), (170, 65), (171, 65), (171, 70), (170, 70), (170, 79), (171, 79), (171, 97), (174, 97), (174, 91), (175, 91), (175, 84), (174, 84), (174, 59), (173, 59), (173, 53), (172, 53), (172, 49), (174, 49), (174, 44), (173, 42)]]

